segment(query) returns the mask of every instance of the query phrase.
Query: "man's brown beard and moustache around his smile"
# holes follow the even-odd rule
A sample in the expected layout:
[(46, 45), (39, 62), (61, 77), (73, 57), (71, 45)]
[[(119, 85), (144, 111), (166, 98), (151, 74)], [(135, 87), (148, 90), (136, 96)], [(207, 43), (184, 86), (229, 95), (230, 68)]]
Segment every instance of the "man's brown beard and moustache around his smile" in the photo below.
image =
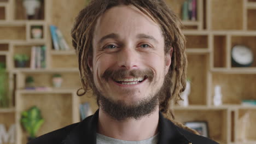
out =
[[(119, 79), (127, 75), (133, 77), (147, 77), (149, 81), (153, 81), (154, 73), (152, 70), (131, 70), (127, 71), (124, 69), (120, 70), (106, 70), (101, 76), (106, 82), (109, 79)], [(154, 85), (155, 83), (153, 83)], [(159, 106), (159, 98), (165, 92), (166, 86), (162, 85), (155, 93), (148, 95), (147, 98), (136, 101), (134, 104), (127, 105), (123, 100), (114, 101), (102, 92), (100, 92), (96, 87), (93, 88), (94, 94), (97, 96), (98, 104), (104, 113), (107, 113), (112, 118), (117, 121), (125, 121), (129, 118), (134, 118), (136, 120), (141, 119), (146, 116), (150, 116), (157, 106)], [(132, 93), (131, 93), (132, 94)]]

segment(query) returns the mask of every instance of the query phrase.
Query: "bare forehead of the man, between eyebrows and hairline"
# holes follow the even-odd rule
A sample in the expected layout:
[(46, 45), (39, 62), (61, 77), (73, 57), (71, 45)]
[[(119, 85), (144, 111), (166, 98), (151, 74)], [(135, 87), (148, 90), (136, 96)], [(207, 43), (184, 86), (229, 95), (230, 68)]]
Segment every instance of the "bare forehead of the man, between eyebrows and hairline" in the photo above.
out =
[(117, 33), (123, 37), (137, 34), (152, 35), (156, 39), (162, 37), (159, 25), (133, 5), (110, 8), (98, 18), (94, 36), (103, 37), (111, 33)]

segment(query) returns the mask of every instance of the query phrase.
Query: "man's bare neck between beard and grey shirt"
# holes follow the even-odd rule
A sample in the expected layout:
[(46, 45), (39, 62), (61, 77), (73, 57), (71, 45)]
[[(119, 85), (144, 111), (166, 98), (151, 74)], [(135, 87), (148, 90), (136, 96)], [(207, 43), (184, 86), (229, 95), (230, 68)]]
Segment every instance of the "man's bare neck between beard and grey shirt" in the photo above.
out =
[(98, 133), (125, 141), (146, 140), (158, 133), (159, 109), (141, 119), (117, 121), (101, 108), (98, 115)]

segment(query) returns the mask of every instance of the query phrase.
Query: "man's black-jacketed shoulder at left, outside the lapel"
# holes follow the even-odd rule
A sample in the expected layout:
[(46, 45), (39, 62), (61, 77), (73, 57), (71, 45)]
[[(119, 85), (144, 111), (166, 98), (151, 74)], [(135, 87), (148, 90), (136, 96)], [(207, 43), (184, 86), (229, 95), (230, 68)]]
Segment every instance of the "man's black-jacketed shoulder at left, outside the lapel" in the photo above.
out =
[(50, 133), (44, 134), (42, 136), (37, 137), (36, 139), (31, 140), (27, 144), (43, 144), (43, 143), (54, 143), (58, 144), (61, 143), (66, 136), (69, 134), (69, 132), (78, 125), (79, 123), (74, 123), (71, 125), (67, 125), (66, 127), (63, 127), (61, 129), (57, 129), (54, 131), (51, 131)]

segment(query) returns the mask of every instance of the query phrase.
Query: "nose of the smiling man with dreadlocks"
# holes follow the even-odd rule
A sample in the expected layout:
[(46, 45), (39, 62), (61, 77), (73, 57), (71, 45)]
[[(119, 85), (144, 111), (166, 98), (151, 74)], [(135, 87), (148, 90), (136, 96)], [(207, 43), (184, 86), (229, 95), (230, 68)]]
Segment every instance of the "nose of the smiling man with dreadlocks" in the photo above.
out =
[(129, 47), (124, 47), (118, 53), (118, 66), (119, 68), (125, 68), (127, 70), (134, 69), (138, 67), (138, 53), (135, 49)]

